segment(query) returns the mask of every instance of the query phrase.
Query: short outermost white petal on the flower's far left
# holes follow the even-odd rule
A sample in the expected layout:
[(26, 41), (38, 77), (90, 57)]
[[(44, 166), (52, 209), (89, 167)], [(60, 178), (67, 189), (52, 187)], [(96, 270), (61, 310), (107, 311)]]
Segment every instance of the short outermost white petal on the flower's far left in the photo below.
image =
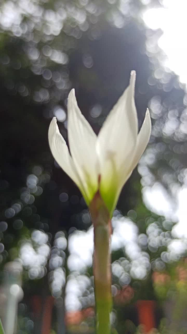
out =
[(86, 196), (84, 187), (81, 184), (79, 176), (77, 175), (75, 164), (69, 153), (68, 146), (66, 145), (64, 138), (60, 134), (56, 117), (53, 117), (50, 123), (48, 138), (49, 146), (53, 157), (55, 158), (59, 166), (66, 172), (66, 174), (68, 174), (68, 176), (70, 176), (71, 179), (77, 184), (83, 195)]

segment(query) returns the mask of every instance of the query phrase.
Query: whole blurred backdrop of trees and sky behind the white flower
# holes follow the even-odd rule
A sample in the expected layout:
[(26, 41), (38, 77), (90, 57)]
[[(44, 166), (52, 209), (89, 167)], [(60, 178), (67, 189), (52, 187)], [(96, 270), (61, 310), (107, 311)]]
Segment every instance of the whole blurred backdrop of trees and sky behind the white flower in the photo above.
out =
[(96, 134), (136, 70), (149, 145), (112, 218), (118, 334), (187, 333), (186, 0), (1, 0), (0, 317), (6, 334), (94, 333), (93, 227), (54, 161), (67, 97)]

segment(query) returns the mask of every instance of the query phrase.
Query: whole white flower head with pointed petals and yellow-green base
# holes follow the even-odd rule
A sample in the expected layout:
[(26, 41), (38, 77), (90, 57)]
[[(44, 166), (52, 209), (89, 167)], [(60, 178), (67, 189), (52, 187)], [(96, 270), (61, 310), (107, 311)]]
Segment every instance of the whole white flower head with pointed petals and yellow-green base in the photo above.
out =
[(151, 120), (147, 109), (138, 133), (138, 119), (134, 103), (135, 71), (130, 84), (107, 116), (98, 136), (82, 115), (75, 90), (68, 97), (68, 140), (59, 132), (54, 117), (49, 127), (51, 152), (81, 190), (89, 205), (99, 191), (110, 215), (121, 188), (136, 167), (149, 141)]

